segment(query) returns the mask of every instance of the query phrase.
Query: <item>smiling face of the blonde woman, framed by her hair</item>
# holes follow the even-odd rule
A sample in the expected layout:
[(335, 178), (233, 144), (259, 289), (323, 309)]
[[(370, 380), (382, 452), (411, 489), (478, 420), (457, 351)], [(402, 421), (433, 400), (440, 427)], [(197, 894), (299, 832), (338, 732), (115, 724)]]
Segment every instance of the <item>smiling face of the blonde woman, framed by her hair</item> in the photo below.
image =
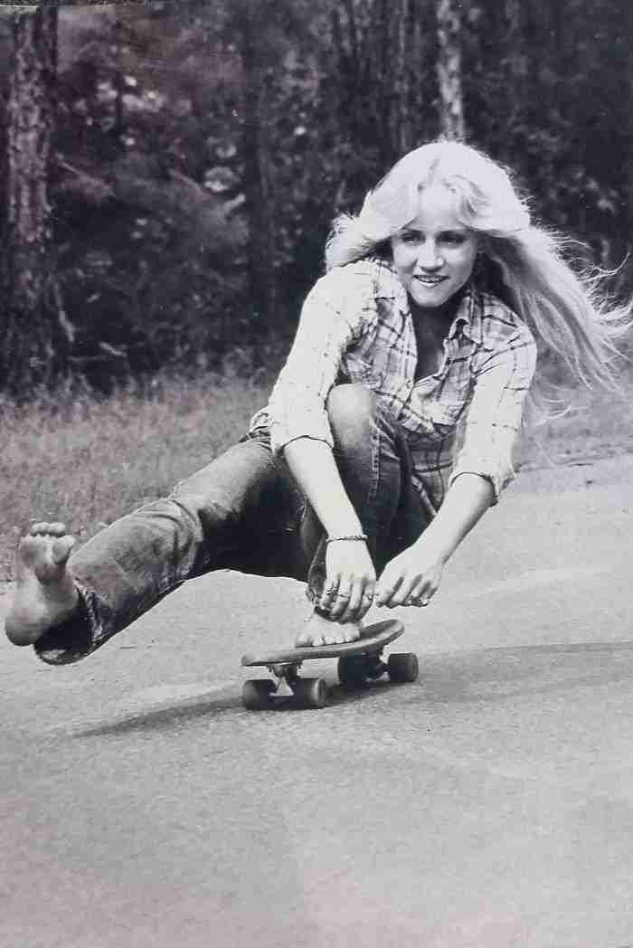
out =
[(420, 192), (418, 216), (391, 237), (393, 264), (411, 299), (425, 308), (450, 300), (473, 272), (478, 238), (456, 218), (443, 185)]

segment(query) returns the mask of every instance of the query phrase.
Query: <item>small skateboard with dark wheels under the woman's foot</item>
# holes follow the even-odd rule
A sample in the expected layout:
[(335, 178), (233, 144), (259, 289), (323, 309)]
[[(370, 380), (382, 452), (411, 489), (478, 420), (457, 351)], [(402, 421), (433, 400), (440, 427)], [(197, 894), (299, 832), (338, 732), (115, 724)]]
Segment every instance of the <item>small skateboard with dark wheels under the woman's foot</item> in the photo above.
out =
[(244, 668), (263, 666), (275, 676), (275, 679), (259, 678), (244, 682), (244, 707), (250, 711), (275, 707), (283, 700), (277, 695), (282, 682), (289, 686), (292, 697), (303, 707), (325, 707), (328, 702), (328, 687), (325, 681), (322, 678), (301, 678), (298, 673), (303, 662), (312, 659), (338, 659), (338, 679), (349, 688), (361, 687), (385, 673), (391, 682), (415, 682), (418, 677), (418, 659), (413, 652), (392, 653), (387, 662), (383, 662), (381, 658), (383, 648), (404, 631), (402, 622), (388, 619), (367, 626), (362, 630), (360, 639), (355, 642), (284, 648), (280, 651), (262, 652), (260, 655), (243, 655)]

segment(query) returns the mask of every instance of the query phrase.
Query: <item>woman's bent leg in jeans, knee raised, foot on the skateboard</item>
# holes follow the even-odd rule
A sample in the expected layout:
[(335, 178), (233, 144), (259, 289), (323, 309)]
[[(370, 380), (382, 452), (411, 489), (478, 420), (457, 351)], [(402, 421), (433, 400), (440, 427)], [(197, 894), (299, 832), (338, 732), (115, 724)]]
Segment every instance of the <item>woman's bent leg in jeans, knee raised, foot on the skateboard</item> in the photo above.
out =
[[(339, 385), (327, 403), (341, 480), (368, 536), (376, 569), (380, 571), (399, 549), (419, 537), (428, 523), (422, 502), (411, 483), (407, 439), (385, 400), (361, 385)], [(316, 602), (325, 582), (325, 538), (321, 538), (308, 578), (308, 597)], [(318, 616), (316, 610), (316, 616)], [(332, 629), (333, 623), (329, 624)], [(300, 644), (332, 641), (328, 624), (315, 621)], [(344, 627), (343, 627), (344, 629)], [(335, 641), (355, 634), (339, 632)]]

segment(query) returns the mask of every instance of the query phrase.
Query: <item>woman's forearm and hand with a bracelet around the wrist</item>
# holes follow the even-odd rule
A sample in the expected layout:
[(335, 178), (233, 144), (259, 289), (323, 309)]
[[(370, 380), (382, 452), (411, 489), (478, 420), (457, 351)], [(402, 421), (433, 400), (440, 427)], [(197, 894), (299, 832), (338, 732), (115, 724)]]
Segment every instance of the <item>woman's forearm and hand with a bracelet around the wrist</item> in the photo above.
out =
[[(362, 534), (363, 526), (341, 482), (331, 448), (323, 441), (297, 438), (286, 445), (283, 453), (326, 533), (331, 537)], [(326, 573), (326, 591), (350, 592), (350, 598), (337, 600), (333, 593), (324, 591), (319, 605), (327, 608), (333, 619), (362, 619), (371, 606), (376, 578), (367, 544), (330, 543)]]

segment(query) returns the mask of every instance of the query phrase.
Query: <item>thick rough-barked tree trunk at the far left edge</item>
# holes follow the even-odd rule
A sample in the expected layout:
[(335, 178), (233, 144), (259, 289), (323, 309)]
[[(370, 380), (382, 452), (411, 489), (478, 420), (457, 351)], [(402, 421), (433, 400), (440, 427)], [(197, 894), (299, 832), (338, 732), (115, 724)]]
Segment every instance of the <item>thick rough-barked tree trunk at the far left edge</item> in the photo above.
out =
[(45, 312), (57, 8), (11, 16), (14, 55), (7, 105), (7, 234), (2, 346), (3, 387), (23, 391), (50, 377), (54, 325)]

